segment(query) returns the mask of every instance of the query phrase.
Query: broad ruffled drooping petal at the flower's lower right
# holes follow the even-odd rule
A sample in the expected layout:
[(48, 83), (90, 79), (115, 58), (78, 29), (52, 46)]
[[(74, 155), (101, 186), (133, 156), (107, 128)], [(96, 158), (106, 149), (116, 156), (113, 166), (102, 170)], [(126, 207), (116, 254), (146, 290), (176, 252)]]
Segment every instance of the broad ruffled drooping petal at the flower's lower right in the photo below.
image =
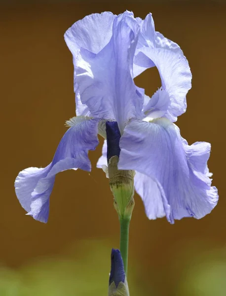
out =
[[(170, 222), (183, 217), (200, 219), (216, 206), (218, 192), (216, 187), (211, 187), (207, 169), (208, 143), (188, 146), (179, 128), (168, 119), (160, 118), (152, 122), (132, 120), (124, 130), (120, 148), (119, 169), (137, 170), (156, 182), (157, 190), (148, 180), (143, 182), (146, 212), (151, 211), (147, 194), (157, 203), (159, 192), (163, 206), (165, 199), (170, 206), (170, 215), (167, 215)], [(148, 192), (149, 187), (152, 192)], [(157, 207), (161, 215), (162, 205), (156, 204)]]

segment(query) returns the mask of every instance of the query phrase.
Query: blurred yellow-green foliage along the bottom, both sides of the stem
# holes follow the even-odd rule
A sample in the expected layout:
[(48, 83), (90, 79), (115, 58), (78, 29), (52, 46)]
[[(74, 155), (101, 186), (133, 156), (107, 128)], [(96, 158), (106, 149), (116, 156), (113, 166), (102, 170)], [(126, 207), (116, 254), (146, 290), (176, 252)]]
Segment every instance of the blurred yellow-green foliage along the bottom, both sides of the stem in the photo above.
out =
[[(111, 265), (109, 243), (82, 241), (68, 253), (71, 255), (38, 259), (18, 270), (0, 267), (0, 296), (106, 296)], [(188, 268), (178, 279), (175, 291), (164, 296), (226, 295), (225, 250), (199, 255), (195, 264), (186, 259)], [(151, 274), (141, 276), (139, 264), (136, 268), (132, 259), (130, 266), (130, 296), (163, 296), (151, 288)], [(138, 281), (141, 278), (142, 283)]]

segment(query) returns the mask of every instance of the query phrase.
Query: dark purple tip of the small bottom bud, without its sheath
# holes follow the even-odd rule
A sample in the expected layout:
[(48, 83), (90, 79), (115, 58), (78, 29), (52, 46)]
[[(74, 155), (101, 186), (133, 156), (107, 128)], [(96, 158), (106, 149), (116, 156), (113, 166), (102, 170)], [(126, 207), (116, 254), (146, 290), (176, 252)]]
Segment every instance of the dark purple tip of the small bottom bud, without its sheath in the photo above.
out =
[(112, 266), (109, 278), (109, 286), (114, 282), (115, 287), (117, 288), (120, 282), (125, 282), (124, 265), (119, 250), (112, 249), (111, 262)]

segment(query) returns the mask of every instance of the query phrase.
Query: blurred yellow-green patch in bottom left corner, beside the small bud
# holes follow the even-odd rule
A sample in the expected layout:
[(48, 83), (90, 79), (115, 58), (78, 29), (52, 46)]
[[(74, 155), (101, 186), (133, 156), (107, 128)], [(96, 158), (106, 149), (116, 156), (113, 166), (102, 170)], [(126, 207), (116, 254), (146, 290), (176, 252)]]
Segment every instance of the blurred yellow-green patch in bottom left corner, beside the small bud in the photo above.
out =
[(106, 296), (111, 251), (106, 242), (83, 241), (71, 256), (42, 258), (17, 271), (0, 268), (0, 296)]

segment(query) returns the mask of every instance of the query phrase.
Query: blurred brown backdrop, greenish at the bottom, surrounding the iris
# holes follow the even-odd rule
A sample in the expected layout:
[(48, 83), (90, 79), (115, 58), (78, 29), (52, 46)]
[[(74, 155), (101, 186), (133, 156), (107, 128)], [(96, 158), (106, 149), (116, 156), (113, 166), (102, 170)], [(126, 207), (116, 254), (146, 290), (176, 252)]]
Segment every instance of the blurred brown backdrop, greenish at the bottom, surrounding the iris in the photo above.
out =
[[(47, 224), (25, 216), (13, 184), (20, 170), (51, 161), (66, 131), (65, 121), (75, 115), (73, 63), (65, 31), (87, 14), (106, 10), (118, 14), (126, 9), (142, 18), (151, 11), (156, 30), (184, 50), (193, 79), (188, 111), (177, 124), (189, 144), (212, 144), (209, 168), (220, 195), (210, 215), (174, 225), (165, 218), (149, 221), (135, 196), (129, 247), (131, 296), (226, 295), (226, 4), (4, 2), (0, 4), (0, 296), (25, 295), (20, 286), (29, 283), (35, 283), (30, 284), (33, 295), (38, 285), (45, 288), (37, 295), (107, 295), (110, 252), (118, 247), (119, 223), (108, 180), (95, 167), (103, 141), (89, 153), (90, 175), (70, 170), (56, 177)], [(160, 86), (156, 69), (135, 82), (149, 95)], [(74, 269), (62, 260), (69, 265), (73, 261)], [(42, 276), (36, 278), (37, 274)], [(63, 277), (67, 280), (59, 288)], [(95, 284), (99, 281), (106, 292), (92, 288), (95, 277)], [(86, 285), (76, 290), (81, 280)]]

